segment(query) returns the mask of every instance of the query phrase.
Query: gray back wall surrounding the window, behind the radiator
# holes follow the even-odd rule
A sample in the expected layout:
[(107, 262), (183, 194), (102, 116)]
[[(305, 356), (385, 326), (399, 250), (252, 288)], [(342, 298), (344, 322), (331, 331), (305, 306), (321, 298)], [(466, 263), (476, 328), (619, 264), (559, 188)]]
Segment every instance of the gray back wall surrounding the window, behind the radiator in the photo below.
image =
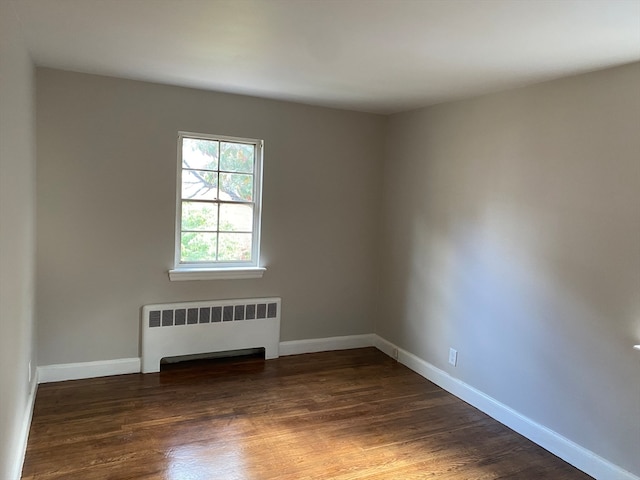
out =
[[(384, 118), (37, 71), (41, 365), (139, 356), (140, 307), (282, 297), (281, 339), (373, 331)], [(262, 279), (170, 282), (177, 132), (265, 141)]]

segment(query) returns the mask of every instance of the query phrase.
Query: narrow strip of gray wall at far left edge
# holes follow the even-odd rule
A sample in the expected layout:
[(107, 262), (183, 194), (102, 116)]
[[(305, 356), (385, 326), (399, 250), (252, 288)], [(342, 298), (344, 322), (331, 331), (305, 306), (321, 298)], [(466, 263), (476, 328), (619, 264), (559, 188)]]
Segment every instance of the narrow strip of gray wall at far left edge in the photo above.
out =
[(0, 478), (16, 478), (34, 353), (34, 73), (11, 5), (0, 1)]

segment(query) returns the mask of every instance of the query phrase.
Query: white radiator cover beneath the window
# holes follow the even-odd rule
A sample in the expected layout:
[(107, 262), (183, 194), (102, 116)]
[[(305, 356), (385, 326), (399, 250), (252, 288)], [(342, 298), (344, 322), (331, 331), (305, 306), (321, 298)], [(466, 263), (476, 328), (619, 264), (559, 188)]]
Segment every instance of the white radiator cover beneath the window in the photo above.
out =
[(264, 347), (277, 358), (280, 298), (244, 298), (142, 307), (142, 372), (179, 355)]

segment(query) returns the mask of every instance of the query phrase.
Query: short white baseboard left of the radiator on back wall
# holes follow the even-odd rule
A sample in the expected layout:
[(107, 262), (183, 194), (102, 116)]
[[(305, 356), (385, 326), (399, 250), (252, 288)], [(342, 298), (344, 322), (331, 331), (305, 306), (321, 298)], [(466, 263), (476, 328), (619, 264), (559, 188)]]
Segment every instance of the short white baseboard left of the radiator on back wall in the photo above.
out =
[(38, 367), (40, 383), (62, 382), (82, 378), (106, 377), (140, 372), (139, 358), (118, 358), (96, 362), (63, 363)]

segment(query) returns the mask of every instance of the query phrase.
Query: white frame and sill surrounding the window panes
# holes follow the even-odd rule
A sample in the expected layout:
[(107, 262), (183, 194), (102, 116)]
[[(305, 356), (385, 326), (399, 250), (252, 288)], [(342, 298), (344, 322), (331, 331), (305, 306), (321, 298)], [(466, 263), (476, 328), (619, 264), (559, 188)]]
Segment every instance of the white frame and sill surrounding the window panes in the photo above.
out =
[[(182, 262), (182, 144), (185, 138), (234, 142), (253, 145), (255, 150), (253, 170), (253, 231), (251, 261), (246, 262)], [(261, 278), (266, 269), (260, 266), (260, 231), (262, 224), (262, 162), (264, 142), (259, 139), (229, 137), (206, 133), (178, 132), (178, 169), (176, 175), (176, 223), (174, 268), (169, 270), (169, 279), (216, 280), (238, 278)], [(220, 159), (218, 159), (220, 161)], [(218, 165), (219, 166), (219, 165)]]

